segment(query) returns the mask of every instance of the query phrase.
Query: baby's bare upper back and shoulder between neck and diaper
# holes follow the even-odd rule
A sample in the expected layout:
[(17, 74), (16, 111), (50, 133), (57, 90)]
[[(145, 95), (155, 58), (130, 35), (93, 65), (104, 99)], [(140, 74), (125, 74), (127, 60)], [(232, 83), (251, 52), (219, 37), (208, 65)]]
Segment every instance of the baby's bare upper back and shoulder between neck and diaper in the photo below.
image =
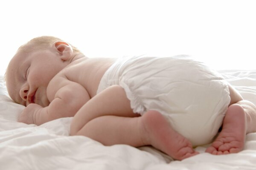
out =
[[(56, 91), (61, 86), (61, 82), (67, 79), (82, 85), (90, 95), (96, 95), (99, 82), (105, 71), (113, 64), (115, 58), (87, 58), (83, 57), (71, 62), (61, 70), (49, 83), (47, 91)], [(60, 85), (60, 86), (58, 86)], [(54, 90), (55, 89), (55, 90)]]

